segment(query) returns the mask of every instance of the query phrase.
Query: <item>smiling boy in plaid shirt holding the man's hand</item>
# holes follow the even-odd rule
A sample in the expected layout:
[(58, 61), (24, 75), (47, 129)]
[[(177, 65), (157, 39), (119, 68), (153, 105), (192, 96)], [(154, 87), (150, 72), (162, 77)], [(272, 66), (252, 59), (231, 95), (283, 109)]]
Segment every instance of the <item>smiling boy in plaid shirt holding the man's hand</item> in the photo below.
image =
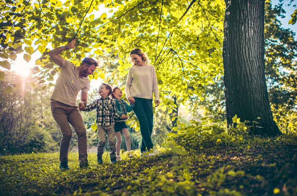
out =
[(111, 87), (108, 84), (102, 83), (99, 87), (99, 95), (101, 98), (96, 99), (89, 105), (85, 105), (84, 102), (79, 103), (80, 111), (89, 112), (96, 108), (96, 124), (98, 126), (98, 145), (97, 145), (97, 161), (99, 164), (103, 163), (102, 155), (104, 145), (106, 143), (105, 133), (107, 133), (107, 140), (110, 148), (110, 160), (112, 163), (116, 163), (116, 142), (114, 133), (114, 118), (122, 119), (116, 113), (115, 101), (109, 98), (111, 94)]

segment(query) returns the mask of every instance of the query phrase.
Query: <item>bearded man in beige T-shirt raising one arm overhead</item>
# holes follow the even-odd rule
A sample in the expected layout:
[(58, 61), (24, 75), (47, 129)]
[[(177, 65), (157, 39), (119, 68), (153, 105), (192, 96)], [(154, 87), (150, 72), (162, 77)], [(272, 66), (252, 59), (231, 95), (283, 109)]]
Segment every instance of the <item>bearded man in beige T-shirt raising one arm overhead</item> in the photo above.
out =
[(69, 123), (73, 126), (78, 142), (79, 165), (87, 167), (87, 136), (85, 124), (76, 105), (77, 94), (81, 90), (79, 107), (84, 108), (87, 103), (90, 81), (87, 78), (96, 69), (98, 63), (92, 58), (85, 58), (80, 66), (75, 66), (71, 62), (63, 59), (59, 54), (64, 50), (75, 48), (76, 39), (68, 45), (61, 46), (49, 51), (52, 61), (61, 67), (60, 75), (57, 79), (55, 89), (51, 96), (52, 116), (58, 123), (61, 132), (60, 145), (60, 169), (68, 170), (68, 152), (72, 136), (72, 130)]

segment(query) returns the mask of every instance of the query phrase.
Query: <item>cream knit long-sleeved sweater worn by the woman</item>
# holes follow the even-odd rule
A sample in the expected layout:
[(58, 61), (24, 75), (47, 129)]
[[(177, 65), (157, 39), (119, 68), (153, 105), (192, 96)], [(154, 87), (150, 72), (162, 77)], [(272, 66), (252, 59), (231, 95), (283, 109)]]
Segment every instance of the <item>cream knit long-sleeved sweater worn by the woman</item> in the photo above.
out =
[(152, 65), (130, 67), (125, 90), (128, 100), (129, 97), (152, 100), (153, 92), (155, 100), (160, 100), (155, 67)]

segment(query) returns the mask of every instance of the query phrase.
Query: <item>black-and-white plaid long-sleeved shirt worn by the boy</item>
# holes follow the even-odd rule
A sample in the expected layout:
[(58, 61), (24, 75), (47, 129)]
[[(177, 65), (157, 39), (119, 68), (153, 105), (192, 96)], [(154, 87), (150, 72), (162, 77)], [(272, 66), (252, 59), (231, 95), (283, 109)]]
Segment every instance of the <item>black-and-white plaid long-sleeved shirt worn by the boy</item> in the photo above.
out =
[(101, 126), (109, 126), (114, 124), (114, 118), (120, 119), (116, 113), (115, 101), (109, 97), (96, 99), (89, 105), (85, 106), (83, 111), (90, 112), (96, 108), (96, 123)]

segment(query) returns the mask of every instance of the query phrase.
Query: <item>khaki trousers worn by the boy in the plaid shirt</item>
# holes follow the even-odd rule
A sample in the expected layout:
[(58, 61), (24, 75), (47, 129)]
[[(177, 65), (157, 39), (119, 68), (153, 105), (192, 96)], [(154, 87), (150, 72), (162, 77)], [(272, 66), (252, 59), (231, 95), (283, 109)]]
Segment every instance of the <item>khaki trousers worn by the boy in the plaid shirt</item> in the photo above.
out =
[(109, 149), (110, 149), (110, 152), (109, 152), (110, 160), (115, 160), (116, 159), (116, 147), (115, 147), (116, 142), (115, 142), (115, 134), (114, 134), (114, 125), (110, 125), (110, 126), (98, 125), (97, 135), (99, 137), (99, 141), (97, 145), (97, 156), (98, 158), (102, 159), (103, 150), (106, 143), (105, 134), (107, 134), (107, 140), (108, 140)]

